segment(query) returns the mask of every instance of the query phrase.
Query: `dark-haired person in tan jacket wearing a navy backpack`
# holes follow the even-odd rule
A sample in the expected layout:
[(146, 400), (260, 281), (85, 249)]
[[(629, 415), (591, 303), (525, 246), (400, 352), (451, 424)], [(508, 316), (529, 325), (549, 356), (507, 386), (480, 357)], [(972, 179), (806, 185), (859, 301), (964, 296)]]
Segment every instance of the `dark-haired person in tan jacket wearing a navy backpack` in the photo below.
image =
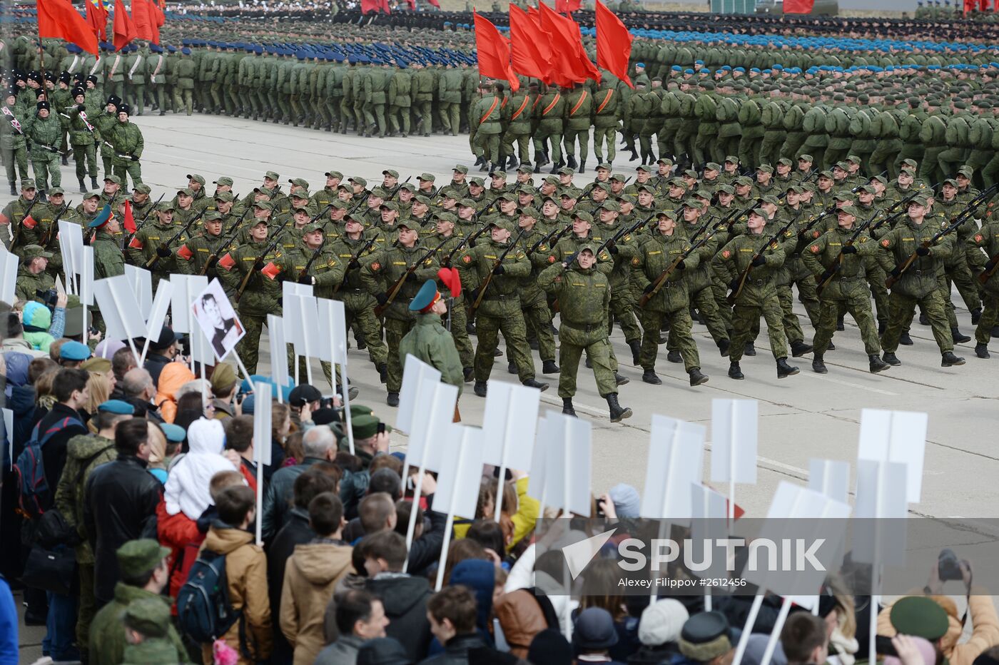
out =
[[(221, 426), (221, 425), (220, 425)], [(266, 660), (271, 656), (271, 608), (267, 598), (267, 557), (247, 527), (253, 523), (255, 496), (245, 485), (227, 487), (216, 501), (218, 520), (205, 537), (203, 549), (226, 555), (226, 581), (233, 609), (242, 611), (223, 639), (241, 654), (240, 663)], [(241, 639), (241, 633), (246, 641)], [(242, 656), (243, 650), (250, 656)], [(205, 662), (212, 662), (212, 645), (202, 646)]]

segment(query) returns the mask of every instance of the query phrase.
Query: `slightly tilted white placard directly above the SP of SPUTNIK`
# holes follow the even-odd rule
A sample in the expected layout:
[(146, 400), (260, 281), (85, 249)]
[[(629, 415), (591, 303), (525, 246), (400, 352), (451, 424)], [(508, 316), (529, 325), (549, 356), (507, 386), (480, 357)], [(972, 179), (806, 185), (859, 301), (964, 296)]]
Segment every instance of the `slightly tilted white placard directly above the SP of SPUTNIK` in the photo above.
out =
[(707, 428), (665, 415), (652, 415), (652, 433), (645, 467), (645, 493), (639, 516), (689, 524), (693, 516), (690, 485), (704, 472)]

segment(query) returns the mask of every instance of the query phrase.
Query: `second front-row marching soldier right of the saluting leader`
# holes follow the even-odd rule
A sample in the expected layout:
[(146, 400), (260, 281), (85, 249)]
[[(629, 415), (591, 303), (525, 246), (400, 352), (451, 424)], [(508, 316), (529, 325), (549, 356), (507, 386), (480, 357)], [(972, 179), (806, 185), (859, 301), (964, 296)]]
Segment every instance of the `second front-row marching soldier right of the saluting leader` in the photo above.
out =
[(774, 280), (775, 272), (784, 264), (784, 248), (764, 235), (765, 222), (766, 213), (754, 209), (746, 222), (748, 233), (728, 241), (711, 261), (711, 268), (728, 284), (735, 300), (729, 347), (730, 378), (745, 378), (739, 361), (760, 315), (766, 321), (770, 349), (777, 361), (777, 378), (798, 373), (796, 366), (787, 364), (787, 338)]

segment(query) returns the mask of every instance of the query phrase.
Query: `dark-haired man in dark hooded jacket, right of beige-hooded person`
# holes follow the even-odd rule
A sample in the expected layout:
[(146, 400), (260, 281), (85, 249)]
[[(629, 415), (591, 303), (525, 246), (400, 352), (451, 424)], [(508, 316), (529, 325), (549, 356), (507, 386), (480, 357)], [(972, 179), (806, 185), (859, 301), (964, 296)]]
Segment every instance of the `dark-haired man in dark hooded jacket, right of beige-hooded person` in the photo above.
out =
[[(431, 624), (427, 618), (427, 599), (431, 587), (425, 577), (403, 572), (406, 561), (406, 538), (394, 531), (381, 531), (362, 540), (365, 588), (385, 603), (389, 617), (389, 637), (395, 637), (414, 660), (423, 658), (431, 642)], [(471, 598), (471, 596), (470, 596)], [(475, 603), (475, 600), (472, 600)], [(475, 608), (468, 617), (475, 627)], [(444, 644), (444, 641), (441, 642)]]

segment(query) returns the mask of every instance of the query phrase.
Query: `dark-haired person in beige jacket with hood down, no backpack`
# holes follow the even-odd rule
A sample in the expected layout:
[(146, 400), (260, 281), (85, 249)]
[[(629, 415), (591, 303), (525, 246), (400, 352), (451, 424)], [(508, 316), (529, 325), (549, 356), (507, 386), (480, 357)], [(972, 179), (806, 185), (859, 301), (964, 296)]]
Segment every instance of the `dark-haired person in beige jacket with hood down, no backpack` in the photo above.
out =
[(316, 660), (323, 648), (323, 613), (337, 583), (353, 570), (353, 548), (341, 539), (344, 505), (340, 497), (324, 492), (313, 498), (309, 525), (316, 537), (295, 548), (281, 592), (281, 630), (295, 648), (295, 665), (312, 665)]

